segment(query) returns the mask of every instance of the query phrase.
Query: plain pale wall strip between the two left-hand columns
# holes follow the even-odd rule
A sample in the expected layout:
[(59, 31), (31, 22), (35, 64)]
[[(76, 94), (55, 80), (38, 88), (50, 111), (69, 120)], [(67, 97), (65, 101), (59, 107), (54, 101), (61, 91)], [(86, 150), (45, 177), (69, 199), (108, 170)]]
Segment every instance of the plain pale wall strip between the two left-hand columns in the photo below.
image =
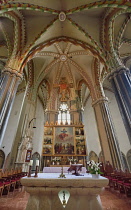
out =
[(2, 148), (2, 150), (4, 151), (5, 156), (7, 156), (11, 151), (12, 143), (14, 141), (16, 131), (18, 128), (20, 110), (22, 107), (23, 99), (24, 99), (24, 92), (19, 93), (15, 97), (10, 118), (7, 124), (7, 129), (3, 138), (3, 142), (1, 144), (1, 148), (4, 147)]

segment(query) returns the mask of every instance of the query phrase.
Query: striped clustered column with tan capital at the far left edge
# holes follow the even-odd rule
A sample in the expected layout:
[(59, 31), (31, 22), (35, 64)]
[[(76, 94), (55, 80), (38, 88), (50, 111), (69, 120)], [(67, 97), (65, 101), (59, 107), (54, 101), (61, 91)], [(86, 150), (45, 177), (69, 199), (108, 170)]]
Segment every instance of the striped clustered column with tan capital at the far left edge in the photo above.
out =
[(4, 137), (18, 85), (22, 79), (22, 75), (12, 69), (4, 69), (2, 75), (0, 90), (0, 144)]

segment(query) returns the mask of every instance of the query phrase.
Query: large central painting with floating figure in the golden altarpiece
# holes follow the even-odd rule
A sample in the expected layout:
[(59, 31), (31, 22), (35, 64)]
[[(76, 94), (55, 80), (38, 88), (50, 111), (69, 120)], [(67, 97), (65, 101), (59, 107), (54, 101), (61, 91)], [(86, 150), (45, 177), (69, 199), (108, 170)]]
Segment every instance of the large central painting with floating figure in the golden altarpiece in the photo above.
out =
[(56, 155), (57, 154), (73, 155), (75, 153), (73, 127), (55, 128), (54, 153)]

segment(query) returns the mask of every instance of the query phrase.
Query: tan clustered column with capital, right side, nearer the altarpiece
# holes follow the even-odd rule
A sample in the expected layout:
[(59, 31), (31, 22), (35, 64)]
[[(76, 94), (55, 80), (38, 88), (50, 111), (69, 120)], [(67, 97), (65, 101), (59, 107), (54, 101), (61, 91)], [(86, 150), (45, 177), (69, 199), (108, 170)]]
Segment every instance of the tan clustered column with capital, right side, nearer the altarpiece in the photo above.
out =
[(100, 143), (105, 161), (110, 161), (113, 167), (123, 168), (121, 152), (114, 131), (108, 99), (99, 98), (93, 102)]

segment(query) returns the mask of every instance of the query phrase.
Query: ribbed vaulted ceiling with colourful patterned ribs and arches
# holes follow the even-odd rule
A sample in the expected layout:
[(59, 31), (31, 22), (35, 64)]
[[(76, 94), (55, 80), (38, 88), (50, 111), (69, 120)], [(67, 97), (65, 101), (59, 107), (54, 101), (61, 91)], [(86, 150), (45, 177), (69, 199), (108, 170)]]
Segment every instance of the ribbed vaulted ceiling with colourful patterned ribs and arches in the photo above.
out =
[(62, 77), (82, 90), (85, 103), (97, 81), (106, 81), (112, 71), (113, 53), (123, 62), (131, 58), (130, 1), (0, 3), (0, 61), (24, 72), (44, 108)]

